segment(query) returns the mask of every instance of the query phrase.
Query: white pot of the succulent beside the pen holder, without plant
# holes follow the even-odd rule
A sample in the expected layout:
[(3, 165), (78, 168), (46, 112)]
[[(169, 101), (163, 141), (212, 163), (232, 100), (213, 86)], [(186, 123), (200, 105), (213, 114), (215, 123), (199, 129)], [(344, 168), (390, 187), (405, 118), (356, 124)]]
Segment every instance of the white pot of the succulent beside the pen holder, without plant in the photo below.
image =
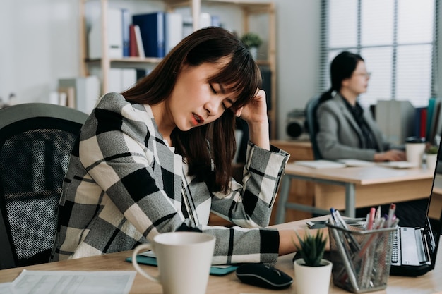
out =
[(304, 259), (296, 259), (294, 265), (294, 281), (297, 294), (327, 294), (330, 289), (332, 263), (321, 260), (321, 267), (308, 267)]

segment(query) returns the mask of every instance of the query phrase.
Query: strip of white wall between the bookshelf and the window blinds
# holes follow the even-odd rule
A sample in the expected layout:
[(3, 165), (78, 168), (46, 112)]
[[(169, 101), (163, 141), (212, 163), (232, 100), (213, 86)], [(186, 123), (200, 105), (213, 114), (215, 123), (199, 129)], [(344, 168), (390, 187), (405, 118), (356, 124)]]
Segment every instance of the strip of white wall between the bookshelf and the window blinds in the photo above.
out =
[(287, 113), (304, 109), (316, 94), (319, 68), (321, 1), (276, 0), (277, 126), (285, 139)]

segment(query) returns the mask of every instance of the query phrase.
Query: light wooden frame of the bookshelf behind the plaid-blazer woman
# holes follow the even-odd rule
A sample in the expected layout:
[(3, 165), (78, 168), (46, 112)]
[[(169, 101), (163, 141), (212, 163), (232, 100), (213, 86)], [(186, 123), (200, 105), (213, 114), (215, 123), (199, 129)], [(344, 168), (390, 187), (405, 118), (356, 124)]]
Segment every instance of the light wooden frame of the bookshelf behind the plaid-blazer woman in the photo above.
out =
[[(101, 11), (101, 44), (102, 54), (100, 59), (88, 58), (88, 34), (87, 34), (87, 19), (86, 19), (86, 3), (96, 1), (100, 3)], [(146, 57), (124, 57), (120, 59), (113, 59), (109, 57), (107, 46), (107, 8), (109, 2), (116, 0), (80, 0), (79, 1), (79, 15), (80, 15), (80, 75), (90, 75), (90, 68), (100, 68), (101, 73), (101, 92), (102, 94), (108, 92), (109, 85), (109, 71), (111, 68), (140, 68), (140, 67), (155, 67), (161, 59)], [(190, 13), (193, 18), (193, 30), (197, 30), (199, 27), (199, 16), (201, 11), (205, 8), (222, 9), (232, 8), (241, 12), (241, 25), (235, 27), (243, 34), (244, 32), (253, 31), (253, 25), (251, 25), (251, 19), (256, 16), (265, 16), (268, 23), (265, 24), (267, 32), (267, 39), (263, 46), (265, 46), (263, 59), (258, 57), (256, 63), (258, 66), (263, 67), (266, 71), (270, 71), (270, 80), (267, 81), (270, 85), (270, 96), (268, 116), (271, 121), (270, 133), (272, 137), (276, 137), (277, 133), (277, 120), (276, 120), (276, 108), (277, 108), (277, 91), (276, 91), (276, 32), (275, 32), (275, 4), (273, 2), (262, 2), (253, 0), (131, 0), (131, 1), (144, 1), (148, 4), (162, 4), (165, 11), (175, 11), (180, 8), (190, 8)], [(118, 4), (124, 4), (128, 1), (118, 1)], [(123, 7), (122, 7), (123, 8)], [(197, 17), (198, 16), (198, 17)]]

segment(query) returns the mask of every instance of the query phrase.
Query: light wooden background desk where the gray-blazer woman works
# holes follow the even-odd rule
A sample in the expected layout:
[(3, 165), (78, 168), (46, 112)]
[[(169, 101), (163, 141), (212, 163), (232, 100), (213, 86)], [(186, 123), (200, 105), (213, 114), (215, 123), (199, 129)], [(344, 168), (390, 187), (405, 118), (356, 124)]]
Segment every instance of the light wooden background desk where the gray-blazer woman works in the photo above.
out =
[[(382, 166), (312, 169), (287, 164), (275, 222), (284, 222), (287, 208), (328, 214), (328, 209), (334, 207), (345, 209), (347, 216), (354, 217), (356, 207), (426, 198), (430, 195), (433, 173), (428, 169), (390, 169)], [(321, 183), (315, 187), (314, 206), (287, 201), (292, 179)]]

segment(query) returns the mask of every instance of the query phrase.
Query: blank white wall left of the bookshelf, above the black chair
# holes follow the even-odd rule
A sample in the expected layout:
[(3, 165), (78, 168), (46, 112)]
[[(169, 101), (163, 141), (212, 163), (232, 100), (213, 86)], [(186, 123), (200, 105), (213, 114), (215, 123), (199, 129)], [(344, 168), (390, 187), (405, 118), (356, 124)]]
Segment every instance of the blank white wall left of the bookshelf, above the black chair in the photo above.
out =
[(0, 97), (47, 102), (78, 75), (78, 0), (1, 0)]

